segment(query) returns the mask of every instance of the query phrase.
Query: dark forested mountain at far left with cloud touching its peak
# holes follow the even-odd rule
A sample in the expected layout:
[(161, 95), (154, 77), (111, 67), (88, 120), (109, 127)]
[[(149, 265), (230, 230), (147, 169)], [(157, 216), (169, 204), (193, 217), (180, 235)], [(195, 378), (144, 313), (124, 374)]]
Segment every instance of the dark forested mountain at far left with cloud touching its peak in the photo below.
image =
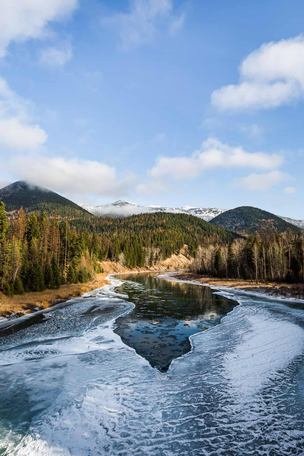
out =
[(40, 211), (59, 218), (80, 217), (88, 212), (69, 199), (52, 190), (17, 181), (0, 190), (0, 201), (5, 203), (5, 210), (12, 212), (22, 206), (25, 212)]

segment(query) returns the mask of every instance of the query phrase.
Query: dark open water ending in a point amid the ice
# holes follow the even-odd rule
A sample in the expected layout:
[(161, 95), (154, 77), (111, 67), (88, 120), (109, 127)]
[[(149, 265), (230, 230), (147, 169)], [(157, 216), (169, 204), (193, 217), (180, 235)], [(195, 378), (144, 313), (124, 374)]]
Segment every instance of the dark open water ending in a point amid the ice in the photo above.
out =
[(168, 370), (174, 358), (189, 352), (189, 336), (220, 323), (236, 301), (212, 294), (209, 287), (158, 279), (159, 273), (124, 274), (116, 289), (129, 296), (134, 310), (116, 320), (114, 332), (152, 367)]

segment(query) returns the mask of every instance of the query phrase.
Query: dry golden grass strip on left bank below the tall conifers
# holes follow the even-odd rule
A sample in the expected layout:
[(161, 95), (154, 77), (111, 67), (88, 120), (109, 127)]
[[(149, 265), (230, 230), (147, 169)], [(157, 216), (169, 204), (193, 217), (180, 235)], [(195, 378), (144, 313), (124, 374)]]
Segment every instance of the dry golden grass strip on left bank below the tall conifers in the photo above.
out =
[(64, 302), (75, 296), (81, 296), (88, 291), (96, 290), (106, 283), (105, 274), (98, 274), (97, 280), (86, 284), (62, 285), (59, 290), (36, 291), (15, 295), (13, 298), (0, 293), (0, 316), (21, 316), (25, 313), (47, 309), (48, 307)]

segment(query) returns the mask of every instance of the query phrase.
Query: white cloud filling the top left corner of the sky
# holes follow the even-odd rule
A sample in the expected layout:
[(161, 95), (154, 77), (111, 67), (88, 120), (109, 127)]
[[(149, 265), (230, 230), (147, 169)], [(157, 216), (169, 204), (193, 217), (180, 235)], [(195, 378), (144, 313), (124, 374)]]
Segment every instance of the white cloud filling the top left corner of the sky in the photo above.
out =
[(77, 0), (3, 0), (0, 14), (0, 57), (11, 41), (47, 36), (47, 25), (60, 21), (77, 7)]

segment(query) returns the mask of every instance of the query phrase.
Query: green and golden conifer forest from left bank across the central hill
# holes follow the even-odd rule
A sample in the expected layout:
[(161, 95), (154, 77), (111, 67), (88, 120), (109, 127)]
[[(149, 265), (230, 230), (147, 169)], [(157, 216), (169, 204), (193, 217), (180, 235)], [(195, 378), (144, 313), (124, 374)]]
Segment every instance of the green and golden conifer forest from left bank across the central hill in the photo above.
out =
[[(97, 219), (97, 218), (96, 218)], [(151, 267), (180, 253), (196, 255), (203, 243), (227, 242), (232, 233), (187, 214), (152, 213), (100, 218), (98, 229), (45, 212), (5, 212), (0, 203), (0, 290), (7, 295), (87, 282), (101, 272), (100, 261), (120, 267)], [(84, 220), (87, 220), (84, 217)]]

